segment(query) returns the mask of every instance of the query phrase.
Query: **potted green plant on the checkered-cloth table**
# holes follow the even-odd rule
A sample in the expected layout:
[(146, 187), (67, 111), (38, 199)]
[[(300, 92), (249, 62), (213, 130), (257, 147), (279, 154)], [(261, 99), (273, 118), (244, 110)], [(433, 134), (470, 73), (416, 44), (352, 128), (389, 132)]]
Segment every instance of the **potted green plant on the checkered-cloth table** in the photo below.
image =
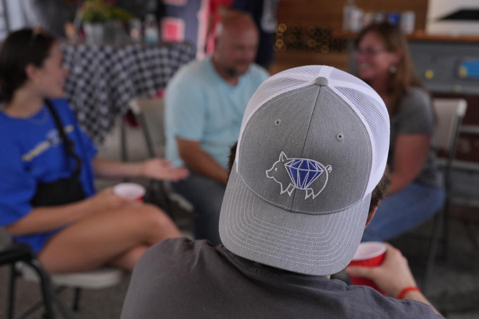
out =
[(81, 8), (86, 40), (92, 44), (114, 42), (115, 35), (122, 32), (121, 22), (132, 17), (127, 11), (104, 0), (87, 0)]

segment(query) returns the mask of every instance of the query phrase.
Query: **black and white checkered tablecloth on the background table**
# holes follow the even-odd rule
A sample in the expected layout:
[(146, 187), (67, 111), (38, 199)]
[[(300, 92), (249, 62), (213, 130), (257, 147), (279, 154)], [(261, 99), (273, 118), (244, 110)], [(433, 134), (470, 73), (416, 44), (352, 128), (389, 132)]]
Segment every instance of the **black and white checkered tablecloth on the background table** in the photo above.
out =
[(186, 42), (120, 47), (62, 43), (61, 48), (70, 70), (66, 98), (97, 144), (103, 142), (116, 117), (128, 111), (131, 99), (164, 89), (178, 68), (196, 54)]

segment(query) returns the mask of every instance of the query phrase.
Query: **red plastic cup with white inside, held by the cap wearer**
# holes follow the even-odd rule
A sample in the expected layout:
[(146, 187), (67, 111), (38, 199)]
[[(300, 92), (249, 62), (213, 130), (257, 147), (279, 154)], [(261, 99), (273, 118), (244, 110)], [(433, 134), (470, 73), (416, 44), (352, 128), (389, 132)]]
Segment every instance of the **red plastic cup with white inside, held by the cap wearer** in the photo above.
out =
[[(384, 256), (386, 256), (386, 245), (381, 242), (369, 241), (359, 244), (356, 254), (354, 254), (353, 260), (349, 263), (349, 266), (363, 266), (363, 267), (376, 267), (383, 263)], [(349, 276), (353, 285), (369, 286), (376, 289), (381, 294), (386, 295), (376, 284), (369, 279)]]

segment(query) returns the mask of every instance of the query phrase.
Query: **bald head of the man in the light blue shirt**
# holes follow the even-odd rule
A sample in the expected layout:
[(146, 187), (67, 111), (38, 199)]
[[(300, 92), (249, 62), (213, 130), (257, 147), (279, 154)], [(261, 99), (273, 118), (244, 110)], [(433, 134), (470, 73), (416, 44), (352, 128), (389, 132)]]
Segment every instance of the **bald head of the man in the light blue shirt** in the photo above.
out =
[(249, 14), (226, 11), (217, 27), (215, 64), (229, 76), (244, 74), (256, 57), (258, 41), (258, 30)]

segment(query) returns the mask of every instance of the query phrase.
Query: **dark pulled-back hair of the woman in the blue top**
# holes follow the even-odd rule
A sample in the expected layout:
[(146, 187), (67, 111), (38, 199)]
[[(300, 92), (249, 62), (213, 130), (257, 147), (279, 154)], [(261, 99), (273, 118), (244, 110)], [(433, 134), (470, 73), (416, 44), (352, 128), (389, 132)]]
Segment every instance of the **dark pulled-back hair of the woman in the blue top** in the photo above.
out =
[(0, 48), (0, 102), (10, 102), (27, 80), (25, 67), (41, 67), (50, 54), (55, 38), (36, 28), (8, 34)]

